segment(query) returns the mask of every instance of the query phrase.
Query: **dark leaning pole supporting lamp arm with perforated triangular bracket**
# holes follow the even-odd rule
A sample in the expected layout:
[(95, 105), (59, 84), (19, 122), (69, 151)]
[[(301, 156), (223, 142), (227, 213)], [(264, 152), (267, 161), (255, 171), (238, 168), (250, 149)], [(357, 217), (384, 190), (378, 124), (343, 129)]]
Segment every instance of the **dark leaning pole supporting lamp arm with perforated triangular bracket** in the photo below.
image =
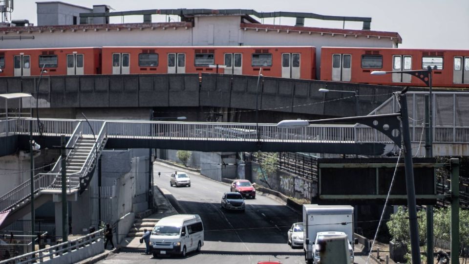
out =
[(407, 95), (401, 93), (399, 98), (401, 101), (402, 138), (404, 141), (405, 186), (407, 189), (407, 208), (409, 211), (410, 248), (412, 263), (420, 263), (419, 223), (417, 222), (417, 205), (415, 201), (414, 166), (412, 163), (412, 147), (410, 145)]

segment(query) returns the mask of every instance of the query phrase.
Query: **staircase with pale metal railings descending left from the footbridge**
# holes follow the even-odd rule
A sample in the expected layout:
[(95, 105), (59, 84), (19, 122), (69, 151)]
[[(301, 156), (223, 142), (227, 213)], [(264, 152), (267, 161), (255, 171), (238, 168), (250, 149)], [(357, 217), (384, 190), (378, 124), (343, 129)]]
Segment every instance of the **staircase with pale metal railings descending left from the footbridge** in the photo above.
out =
[[(96, 161), (106, 144), (106, 122), (102, 123), (96, 141), (92, 134), (86, 133), (87, 126), (86, 122), (79, 122), (66, 144), (67, 194), (76, 192), (81, 194), (86, 190), (96, 167)], [(35, 207), (41, 206), (52, 198), (50, 194), (58, 193), (62, 189), (61, 163), (62, 158), (59, 157), (50, 172), (34, 176), (34, 199), (38, 200), (35, 202)], [(28, 179), (0, 197), (0, 212), (9, 212), (0, 229), (29, 213), (25, 208), (31, 199), (30, 184)]]

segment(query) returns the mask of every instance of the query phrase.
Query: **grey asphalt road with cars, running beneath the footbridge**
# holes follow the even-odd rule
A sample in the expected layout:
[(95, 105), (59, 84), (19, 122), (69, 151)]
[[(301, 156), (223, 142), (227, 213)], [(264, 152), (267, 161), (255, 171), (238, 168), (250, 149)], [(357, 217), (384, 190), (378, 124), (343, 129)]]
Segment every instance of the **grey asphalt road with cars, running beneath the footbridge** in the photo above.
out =
[[(256, 264), (258, 261), (280, 261), (283, 264), (304, 264), (301, 248), (287, 244), (287, 231), (292, 223), (301, 221), (301, 215), (276, 199), (256, 195), (246, 200), (246, 211), (227, 212), (220, 208), (220, 200), (230, 186), (188, 172), (191, 187), (170, 187), (174, 170), (155, 163), (154, 182), (171, 192), (177, 200), (179, 213), (198, 214), (204, 223), (205, 244), (199, 254), (187, 258), (152, 258), (141, 252), (121, 252), (109, 256), (102, 264), (119, 263), (203, 263)], [(161, 176), (158, 177), (158, 172)], [(356, 263), (364, 263), (356, 258)]]

